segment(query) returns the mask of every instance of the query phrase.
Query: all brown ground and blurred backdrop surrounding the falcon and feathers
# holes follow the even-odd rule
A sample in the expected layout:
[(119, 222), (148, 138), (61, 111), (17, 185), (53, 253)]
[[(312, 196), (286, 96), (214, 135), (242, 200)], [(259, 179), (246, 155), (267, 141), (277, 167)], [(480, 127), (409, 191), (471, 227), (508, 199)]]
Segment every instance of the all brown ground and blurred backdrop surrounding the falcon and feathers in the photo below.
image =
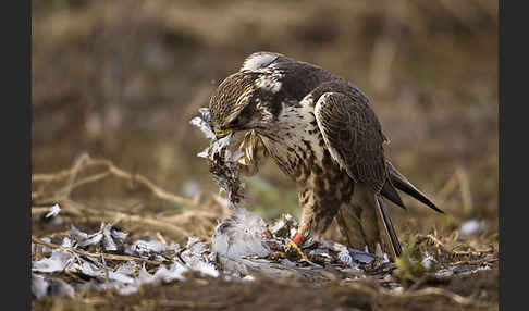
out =
[[(403, 244), (417, 240), (413, 257), (487, 266), (421, 274), (402, 293), (376, 277), (190, 276), (132, 296), (34, 299), (34, 310), (497, 310), (496, 1), (32, 3), (34, 236), (104, 221), (133, 237), (208, 240), (227, 210), (196, 157), (208, 141), (188, 122), (246, 55), (269, 50), (367, 94), (391, 139), (386, 156), (446, 212), (407, 198), (408, 211), (392, 209)], [(245, 208), (267, 221), (299, 215), (293, 183), (271, 161), (247, 184)], [(60, 221), (46, 221), (53, 203)], [(471, 220), (480, 229), (465, 236)]]

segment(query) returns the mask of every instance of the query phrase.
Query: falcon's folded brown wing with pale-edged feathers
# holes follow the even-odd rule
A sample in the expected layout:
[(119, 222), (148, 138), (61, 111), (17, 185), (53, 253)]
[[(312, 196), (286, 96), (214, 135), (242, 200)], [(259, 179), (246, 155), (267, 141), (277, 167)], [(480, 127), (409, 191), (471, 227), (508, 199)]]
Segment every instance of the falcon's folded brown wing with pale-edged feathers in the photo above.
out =
[[(344, 91), (340, 85), (327, 87), (319, 98), (315, 115), (333, 159), (357, 183), (379, 192), (387, 177), (384, 150), (386, 140), (374, 111), (357, 91)], [(355, 89), (353, 89), (355, 90)]]

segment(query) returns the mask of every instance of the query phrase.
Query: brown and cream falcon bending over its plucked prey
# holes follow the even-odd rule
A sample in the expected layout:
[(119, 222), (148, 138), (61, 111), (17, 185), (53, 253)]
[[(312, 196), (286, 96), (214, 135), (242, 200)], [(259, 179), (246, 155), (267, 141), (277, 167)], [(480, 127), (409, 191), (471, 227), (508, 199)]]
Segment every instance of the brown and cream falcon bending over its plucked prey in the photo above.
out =
[(387, 138), (368, 98), (320, 66), (253, 53), (214, 90), (209, 109), (217, 137), (246, 132), (241, 165), (248, 174), (270, 156), (296, 182), (302, 217), (290, 249), (303, 258), (302, 245), (334, 217), (349, 247), (401, 256), (384, 202), (406, 209), (396, 189), (442, 212), (384, 157)]

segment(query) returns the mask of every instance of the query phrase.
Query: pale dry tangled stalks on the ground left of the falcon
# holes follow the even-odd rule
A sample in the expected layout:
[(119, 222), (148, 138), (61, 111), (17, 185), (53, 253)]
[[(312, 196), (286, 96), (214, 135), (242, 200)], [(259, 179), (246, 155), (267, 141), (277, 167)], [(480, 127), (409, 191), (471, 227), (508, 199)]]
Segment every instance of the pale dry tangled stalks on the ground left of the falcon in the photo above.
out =
[[(114, 177), (113, 183), (126, 184), (137, 192), (147, 189), (149, 196), (156, 200), (183, 204), (186, 210), (134, 214), (125, 212), (123, 208), (119, 210), (100, 209), (94, 203), (72, 198), (72, 192), (78, 188), (111, 177)], [(229, 212), (227, 207), (218, 196), (212, 196), (206, 202), (200, 202), (199, 196), (180, 197), (159, 188), (142, 175), (131, 174), (108, 160), (93, 159), (86, 153), (74, 161), (69, 170), (51, 174), (34, 174), (32, 179), (35, 189), (32, 191), (33, 217), (42, 214), (49, 210), (50, 206), (58, 203), (62, 210), (61, 214), (72, 223), (106, 222), (113, 226), (124, 226), (130, 231), (162, 232), (180, 242), (186, 240), (189, 235), (209, 239), (217, 221)], [(104, 191), (104, 188), (99, 188), (99, 190)]]

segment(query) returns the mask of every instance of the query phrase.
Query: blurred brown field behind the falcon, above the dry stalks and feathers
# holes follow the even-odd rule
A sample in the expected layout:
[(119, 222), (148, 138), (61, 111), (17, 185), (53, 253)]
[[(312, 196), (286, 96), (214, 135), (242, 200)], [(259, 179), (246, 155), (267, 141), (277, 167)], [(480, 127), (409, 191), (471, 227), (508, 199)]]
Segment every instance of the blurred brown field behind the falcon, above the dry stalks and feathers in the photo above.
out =
[[(280, 52), (350, 79), (368, 96), (385, 152), (444, 210), (406, 200), (402, 231), (497, 232), (497, 1), (33, 0), (33, 173), (83, 152), (183, 197), (218, 192), (209, 145), (189, 125), (214, 88), (256, 51)], [(75, 196), (147, 211), (101, 182)], [(244, 206), (299, 214), (272, 161), (247, 179)], [(104, 200), (103, 200), (104, 199)], [(107, 203), (104, 203), (107, 202)], [(411, 215), (411, 216), (410, 216)]]

